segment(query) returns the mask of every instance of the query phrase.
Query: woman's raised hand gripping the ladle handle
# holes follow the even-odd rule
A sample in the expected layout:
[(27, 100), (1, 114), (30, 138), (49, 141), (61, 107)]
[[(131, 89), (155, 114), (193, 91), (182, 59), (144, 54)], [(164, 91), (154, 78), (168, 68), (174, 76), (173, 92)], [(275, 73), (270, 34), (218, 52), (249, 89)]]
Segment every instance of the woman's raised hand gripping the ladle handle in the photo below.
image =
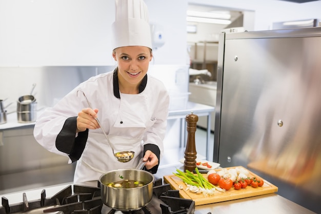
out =
[(84, 108), (78, 112), (77, 116), (77, 132), (86, 131), (86, 129), (99, 128), (97, 118), (98, 109)]

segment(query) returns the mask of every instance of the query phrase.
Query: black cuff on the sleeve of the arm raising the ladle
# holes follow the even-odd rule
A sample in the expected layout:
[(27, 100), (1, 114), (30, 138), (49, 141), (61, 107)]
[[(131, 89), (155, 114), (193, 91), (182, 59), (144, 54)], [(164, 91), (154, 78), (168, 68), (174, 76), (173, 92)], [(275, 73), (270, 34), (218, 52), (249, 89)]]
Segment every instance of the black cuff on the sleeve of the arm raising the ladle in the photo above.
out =
[(69, 154), (72, 162), (79, 160), (88, 139), (88, 129), (83, 132), (78, 132), (78, 136), (75, 138), (76, 129), (77, 117), (73, 116), (65, 121), (62, 130), (56, 138), (56, 148), (59, 151)]

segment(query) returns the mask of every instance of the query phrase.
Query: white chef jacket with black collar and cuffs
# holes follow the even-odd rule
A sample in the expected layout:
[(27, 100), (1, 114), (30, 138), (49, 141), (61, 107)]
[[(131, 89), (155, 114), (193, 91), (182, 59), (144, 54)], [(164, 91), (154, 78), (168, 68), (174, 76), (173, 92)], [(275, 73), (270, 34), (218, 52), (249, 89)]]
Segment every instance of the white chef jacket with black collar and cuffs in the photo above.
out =
[[(78, 112), (89, 107), (79, 90), (84, 91), (91, 107), (99, 110), (98, 120), (115, 152), (134, 151), (133, 160), (118, 162), (101, 129), (75, 132)], [(169, 95), (164, 84), (149, 75), (144, 77), (139, 91), (138, 94), (119, 92), (117, 69), (93, 76), (38, 117), (34, 137), (47, 150), (69, 157), (69, 163), (77, 161), (74, 183), (99, 180), (103, 173), (114, 169), (136, 168), (147, 149), (160, 160)], [(153, 167), (153, 173), (157, 167)]]

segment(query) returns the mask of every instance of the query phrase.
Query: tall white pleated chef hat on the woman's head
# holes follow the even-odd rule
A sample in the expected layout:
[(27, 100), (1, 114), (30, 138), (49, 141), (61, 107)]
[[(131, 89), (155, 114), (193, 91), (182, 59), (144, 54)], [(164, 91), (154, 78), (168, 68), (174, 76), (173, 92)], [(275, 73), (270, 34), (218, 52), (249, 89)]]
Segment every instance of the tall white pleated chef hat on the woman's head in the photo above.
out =
[(115, 0), (112, 49), (124, 46), (152, 48), (148, 9), (143, 0)]

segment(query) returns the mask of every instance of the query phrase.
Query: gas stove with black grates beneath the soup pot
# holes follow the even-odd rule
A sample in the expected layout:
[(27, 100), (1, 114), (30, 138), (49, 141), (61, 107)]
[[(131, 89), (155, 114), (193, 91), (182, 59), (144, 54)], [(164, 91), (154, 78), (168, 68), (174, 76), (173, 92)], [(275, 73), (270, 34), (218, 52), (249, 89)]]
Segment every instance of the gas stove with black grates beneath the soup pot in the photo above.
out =
[(26, 193), (22, 193), (22, 202), (15, 204), (11, 204), (4, 196), (0, 206), (0, 214), (192, 214), (194, 211), (195, 202), (179, 198), (178, 190), (171, 190), (169, 184), (163, 184), (163, 179), (154, 181), (151, 202), (138, 210), (121, 211), (104, 205), (99, 182), (97, 187), (68, 185), (50, 198), (46, 197), (46, 189), (43, 189), (39, 199), (32, 201), (27, 199)]

